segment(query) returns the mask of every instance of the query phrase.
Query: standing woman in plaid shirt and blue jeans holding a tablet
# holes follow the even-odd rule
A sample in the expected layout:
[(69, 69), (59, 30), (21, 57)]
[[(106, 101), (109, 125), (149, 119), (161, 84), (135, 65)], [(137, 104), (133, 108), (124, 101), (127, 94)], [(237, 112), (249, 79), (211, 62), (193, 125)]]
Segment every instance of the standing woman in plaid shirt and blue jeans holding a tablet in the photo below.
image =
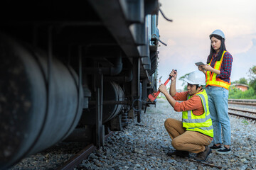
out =
[[(233, 57), (225, 48), (225, 35), (221, 30), (210, 34), (210, 55), (207, 64), (198, 69), (206, 74), (206, 92), (208, 94), (210, 117), (213, 120), (213, 146), (217, 154), (230, 154), (231, 130), (228, 117), (228, 88)], [(222, 149), (222, 137), (223, 145)]]

